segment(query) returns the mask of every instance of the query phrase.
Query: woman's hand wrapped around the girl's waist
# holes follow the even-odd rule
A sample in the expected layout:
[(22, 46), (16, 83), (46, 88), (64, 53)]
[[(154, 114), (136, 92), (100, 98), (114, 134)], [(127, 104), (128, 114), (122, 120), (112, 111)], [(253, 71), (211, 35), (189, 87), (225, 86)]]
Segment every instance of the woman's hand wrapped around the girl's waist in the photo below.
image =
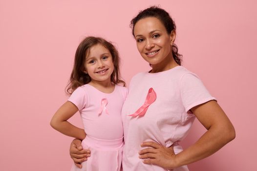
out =
[(75, 165), (78, 168), (82, 168), (81, 163), (87, 160), (87, 157), (90, 156), (90, 150), (83, 149), (81, 145), (81, 140), (74, 139), (69, 148), (69, 154), (72, 160), (74, 161)]

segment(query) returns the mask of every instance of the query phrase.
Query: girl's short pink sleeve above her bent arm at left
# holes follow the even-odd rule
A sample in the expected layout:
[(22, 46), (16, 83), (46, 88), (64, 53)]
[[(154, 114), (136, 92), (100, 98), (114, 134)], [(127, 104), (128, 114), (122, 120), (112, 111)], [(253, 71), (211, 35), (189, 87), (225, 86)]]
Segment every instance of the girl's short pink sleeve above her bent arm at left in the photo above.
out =
[(78, 87), (75, 91), (73, 91), (68, 101), (78, 107), (79, 110), (82, 110), (86, 107), (86, 98), (86, 91), (83, 89), (83, 87)]

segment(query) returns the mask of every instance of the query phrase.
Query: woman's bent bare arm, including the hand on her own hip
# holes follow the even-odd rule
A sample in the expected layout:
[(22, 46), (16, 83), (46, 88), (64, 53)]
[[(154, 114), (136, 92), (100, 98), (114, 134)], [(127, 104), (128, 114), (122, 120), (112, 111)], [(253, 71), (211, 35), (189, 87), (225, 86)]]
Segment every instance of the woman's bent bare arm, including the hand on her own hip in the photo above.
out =
[(145, 164), (156, 164), (173, 169), (210, 156), (221, 149), (235, 136), (235, 129), (216, 101), (198, 105), (191, 109), (207, 131), (188, 149), (174, 154), (173, 148), (166, 148), (154, 142), (145, 142), (142, 147), (151, 147), (139, 152)]

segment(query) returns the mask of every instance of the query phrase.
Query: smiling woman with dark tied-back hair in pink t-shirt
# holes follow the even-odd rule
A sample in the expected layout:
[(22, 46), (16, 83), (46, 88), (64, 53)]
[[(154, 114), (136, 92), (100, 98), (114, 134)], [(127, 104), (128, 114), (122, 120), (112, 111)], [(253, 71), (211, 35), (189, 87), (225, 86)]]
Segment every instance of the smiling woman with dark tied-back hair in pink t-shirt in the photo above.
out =
[[(235, 129), (199, 78), (180, 66), (174, 44), (176, 27), (169, 13), (147, 8), (131, 20), (141, 56), (152, 70), (135, 75), (122, 109), (124, 171), (188, 171), (235, 138)], [(197, 118), (207, 131), (186, 150), (179, 145)], [(81, 141), (70, 155), (77, 166), (86, 160)], [(78, 148), (77, 148), (78, 147)], [(79, 150), (78, 150), (79, 149)]]

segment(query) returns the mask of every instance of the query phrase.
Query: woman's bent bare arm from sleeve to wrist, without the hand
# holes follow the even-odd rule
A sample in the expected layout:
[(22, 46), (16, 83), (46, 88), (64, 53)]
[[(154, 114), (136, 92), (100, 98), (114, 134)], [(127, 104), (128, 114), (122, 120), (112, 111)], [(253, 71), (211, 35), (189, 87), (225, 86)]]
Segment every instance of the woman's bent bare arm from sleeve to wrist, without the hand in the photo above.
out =
[(179, 166), (193, 163), (210, 156), (236, 137), (235, 128), (216, 101), (191, 109), (207, 129), (196, 143), (176, 155)]

